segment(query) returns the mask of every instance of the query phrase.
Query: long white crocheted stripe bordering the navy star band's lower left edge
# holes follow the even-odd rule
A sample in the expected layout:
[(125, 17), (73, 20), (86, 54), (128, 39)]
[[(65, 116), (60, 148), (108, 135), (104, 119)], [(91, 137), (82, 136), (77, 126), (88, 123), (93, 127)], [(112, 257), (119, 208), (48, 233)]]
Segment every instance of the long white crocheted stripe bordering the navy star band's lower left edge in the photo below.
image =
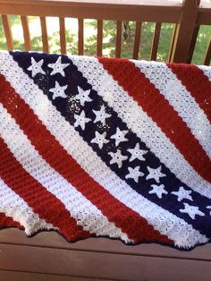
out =
[[(191, 247), (198, 243), (207, 242), (205, 235), (193, 229), (183, 219), (174, 216), (169, 211), (139, 195), (115, 175), (101, 158), (97, 157), (96, 152), (89, 147), (87, 142), (82, 140), (73, 126), (60, 115), (42, 90), (38, 89), (38, 86), (13, 61), (13, 57), (7, 55), (5, 61), (9, 66), (4, 67), (4, 74), (12, 83), (16, 92), (33, 108), (35, 114), (55, 136), (55, 139), (63, 145), (63, 148), (97, 183), (104, 186), (114, 198), (122, 201), (123, 204), (136, 211), (141, 217), (145, 217), (149, 224), (154, 226), (161, 234), (165, 234), (172, 239), (175, 245)], [(15, 72), (13, 78), (10, 77), (10, 72), (8, 73), (6, 68)]]

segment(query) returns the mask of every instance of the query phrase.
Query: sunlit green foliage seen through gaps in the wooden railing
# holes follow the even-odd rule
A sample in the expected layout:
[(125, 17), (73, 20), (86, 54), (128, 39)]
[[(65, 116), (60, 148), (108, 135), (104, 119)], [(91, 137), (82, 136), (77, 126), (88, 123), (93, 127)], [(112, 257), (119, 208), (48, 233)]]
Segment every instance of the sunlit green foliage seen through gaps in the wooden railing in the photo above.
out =
[[(23, 35), (20, 16), (10, 15), (10, 23), (13, 31), (14, 48), (24, 50)], [(33, 50), (42, 51), (41, 30), (38, 17), (29, 17), (31, 45)], [(69, 54), (77, 54), (78, 23), (76, 19), (65, 19), (66, 41)], [(97, 21), (85, 20), (85, 55), (96, 55), (97, 49)], [(47, 33), (50, 52), (60, 53), (59, 23), (57, 18), (47, 18)], [(139, 47), (139, 59), (149, 60), (150, 48), (155, 30), (155, 23), (143, 22)], [(122, 26), (122, 57), (131, 58), (134, 43), (135, 22), (130, 21), (126, 29)], [(157, 60), (165, 61), (173, 34), (173, 24), (163, 23), (161, 37), (158, 46)], [(203, 58), (211, 35), (210, 26), (201, 26), (198, 34), (197, 45), (193, 55), (193, 64), (203, 64)], [(103, 55), (114, 56), (116, 25), (114, 21), (104, 21)], [(3, 24), (0, 18), (0, 49), (6, 49)]]

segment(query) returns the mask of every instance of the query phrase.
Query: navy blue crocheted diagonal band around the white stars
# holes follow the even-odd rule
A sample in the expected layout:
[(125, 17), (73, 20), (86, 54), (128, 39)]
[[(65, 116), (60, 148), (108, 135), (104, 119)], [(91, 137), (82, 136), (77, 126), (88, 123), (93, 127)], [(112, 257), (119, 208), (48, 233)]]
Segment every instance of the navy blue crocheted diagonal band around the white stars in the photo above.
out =
[[(49, 100), (51, 100), (52, 104), (61, 113), (61, 115), (63, 115), (63, 117), (65, 117), (65, 119), (72, 125), (75, 121), (75, 112), (70, 110), (72, 106), (70, 98), (75, 97), (78, 94), (78, 86), (80, 86), (80, 88), (84, 90), (90, 89), (89, 98), (91, 98), (93, 101), (85, 103), (85, 106), (81, 106), (80, 111), (84, 110), (86, 117), (94, 121), (96, 115), (92, 112), (92, 110), (97, 111), (101, 108), (102, 105), (105, 105), (106, 113), (112, 115), (112, 117), (106, 119), (107, 128), (102, 128), (100, 126), (100, 123), (93, 122), (86, 123), (84, 131), (81, 130), (80, 126), (76, 127), (75, 130), (80, 133), (80, 136), (83, 138), (83, 140), (86, 141), (89, 146), (97, 152), (97, 155), (105, 162), (105, 164), (109, 166), (116, 175), (122, 178), (122, 180), (128, 183), (134, 191), (146, 197), (148, 200), (156, 203), (156, 205), (162, 207), (163, 209), (169, 210), (175, 216), (183, 218), (201, 234), (206, 234), (208, 238), (211, 238), (211, 216), (209, 214), (211, 210), (207, 209), (207, 206), (211, 205), (211, 200), (207, 199), (207, 197), (205, 196), (198, 194), (198, 192), (192, 191), (190, 195), (193, 200), (183, 199), (181, 200), (181, 202), (179, 202), (177, 200), (177, 196), (171, 194), (171, 192), (178, 192), (181, 186), (183, 186), (185, 190), (190, 190), (190, 187), (176, 178), (175, 175), (173, 175), (173, 173), (160, 162), (159, 158), (156, 158), (155, 154), (148, 149), (146, 144), (141, 141), (135, 133), (129, 130), (126, 123), (122, 122), (122, 119), (117, 116), (113, 108), (109, 107), (103, 100), (103, 98), (97, 95), (97, 91), (92, 89), (91, 85), (82, 76), (82, 73), (78, 71), (77, 67), (72, 64), (72, 60), (68, 56), (62, 55), (62, 63), (70, 64), (64, 69), (65, 77), (63, 77), (60, 73), (50, 75), (50, 72), (52, 72), (52, 68), (49, 68), (47, 66), (47, 64), (55, 64), (58, 55), (46, 55), (38, 53), (29, 54), (22, 52), (11, 52), (11, 55), (13, 55), (13, 59), (21, 66), (23, 71), (26, 72), (30, 76), (30, 78), (33, 79), (35, 84), (38, 85), (39, 89), (43, 90), (44, 94), (49, 98)], [(31, 71), (28, 71), (28, 68), (31, 65), (31, 56), (33, 56), (37, 62), (41, 59), (44, 59), (42, 69), (46, 72), (46, 74), (38, 73), (35, 77), (31, 76)], [(58, 81), (61, 86), (68, 85), (68, 88), (65, 90), (66, 95), (68, 95), (67, 98), (52, 98), (53, 93), (50, 92), (49, 89), (55, 88), (55, 81)], [(80, 104), (78, 104), (78, 106), (80, 106)], [(121, 149), (122, 155), (128, 157), (126, 161), (122, 162), (121, 168), (118, 168), (116, 164), (110, 165), (109, 162), (111, 161), (111, 156), (108, 155), (109, 152), (116, 152), (115, 141), (114, 139), (110, 139), (110, 137), (114, 135), (117, 127), (121, 131), (128, 131), (125, 137), (129, 140), (121, 142), (117, 147), (117, 149)], [(109, 143), (104, 145), (103, 149), (99, 149), (97, 144), (90, 142), (95, 138), (96, 131), (99, 133), (106, 132), (106, 139), (110, 140)], [(146, 161), (135, 159), (129, 162), (131, 154), (127, 151), (127, 149), (133, 149), (137, 143), (139, 143), (140, 149), (148, 150), (148, 153), (144, 155)], [(144, 176), (139, 177), (139, 183), (135, 183), (133, 179), (125, 179), (125, 175), (129, 174), (129, 166), (131, 166), (132, 168), (140, 166), (140, 171), (145, 174)], [(162, 166), (161, 171), (166, 176), (160, 178), (160, 183), (156, 183), (154, 179), (146, 180), (146, 176), (148, 175), (147, 166), (151, 168)], [(152, 184), (164, 184), (165, 191), (167, 191), (168, 194), (163, 194), (162, 199), (159, 199), (155, 193), (149, 194), (148, 192), (152, 190)], [(180, 209), (184, 209), (184, 202), (190, 204), (190, 206), (197, 206), (199, 210), (205, 214), (205, 216), (201, 217), (196, 215), (195, 219), (191, 219), (188, 214), (181, 213)]]

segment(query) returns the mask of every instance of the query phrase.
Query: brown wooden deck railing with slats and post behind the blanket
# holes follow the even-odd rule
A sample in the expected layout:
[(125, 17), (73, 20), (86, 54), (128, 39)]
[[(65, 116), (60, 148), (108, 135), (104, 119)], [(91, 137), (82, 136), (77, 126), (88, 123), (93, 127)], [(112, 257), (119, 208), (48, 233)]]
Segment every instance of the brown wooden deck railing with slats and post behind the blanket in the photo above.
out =
[[(132, 58), (139, 58), (141, 23), (156, 22), (150, 59), (156, 60), (157, 47), (163, 22), (175, 24), (169, 49), (168, 61), (191, 63), (198, 38), (200, 25), (211, 25), (211, 3), (200, 4), (199, 0), (162, 1), (162, 0), (0, 0), (0, 14), (4, 25), (4, 34), (8, 50), (13, 50), (13, 34), (8, 20), (9, 14), (21, 15), (25, 50), (33, 49), (30, 42), (28, 16), (40, 19), (43, 51), (49, 52), (46, 30), (46, 17), (59, 17), (61, 53), (65, 54), (65, 17), (78, 19), (78, 54), (84, 53), (84, 19), (97, 20), (97, 50), (103, 54), (103, 21), (116, 21), (115, 56), (121, 57), (122, 21), (136, 21)], [(210, 64), (211, 40), (204, 56), (204, 64)]]

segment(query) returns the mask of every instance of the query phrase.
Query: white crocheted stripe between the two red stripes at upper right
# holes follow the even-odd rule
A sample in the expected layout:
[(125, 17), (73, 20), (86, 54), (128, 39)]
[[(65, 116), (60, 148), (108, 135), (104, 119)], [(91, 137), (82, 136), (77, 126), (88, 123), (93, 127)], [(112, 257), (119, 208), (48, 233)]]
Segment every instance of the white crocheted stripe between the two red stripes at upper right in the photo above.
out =
[(131, 60), (131, 62), (139, 68), (140, 72), (145, 74), (160, 94), (168, 100), (207, 152), (208, 157), (211, 158), (211, 125), (207, 115), (173, 71), (164, 63), (135, 60)]

